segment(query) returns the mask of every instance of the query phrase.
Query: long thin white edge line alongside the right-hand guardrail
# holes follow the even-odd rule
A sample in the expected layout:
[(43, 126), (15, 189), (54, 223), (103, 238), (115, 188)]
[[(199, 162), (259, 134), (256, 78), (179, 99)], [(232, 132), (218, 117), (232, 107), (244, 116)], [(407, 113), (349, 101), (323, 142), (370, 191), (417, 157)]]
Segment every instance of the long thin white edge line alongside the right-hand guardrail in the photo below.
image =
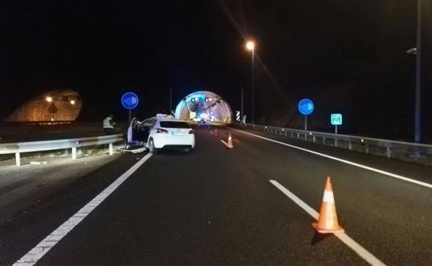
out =
[(338, 161), (338, 162), (343, 162), (345, 164), (350, 164), (350, 165), (352, 165), (354, 167), (363, 168), (363, 169), (366, 169), (366, 170), (373, 171), (375, 173), (381, 173), (383, 175), (388, 175), (388, 176), (390, 176), (392, 178), (397, 178), (397, 179), (400, 179), (400, 180), (404, 180), (406, 182), (411, 182), (411, 183), (414, 183), (414, 184), (420, 184), (420, 186), (429, 187), (430, 189), (432, 189), (432, 184), (429, 184), (429, 183), (426, 183), (426, 182), (418, 181), (418, 180), (415, 180), (415, 179), (412, 179), (412, 178), (406, 178), (405, 176), (402, 176), (402, 175), (397, 175), (395, 173), (390, 173), (390, 172), (379, 170), (379, 169), (376, 169), (376, 168), (373, 168), (373, 167), (368, 167), (368, 166), (363, 165), (363, 164), (358, 164), (357, 162), (351, 162), (351, 161), (348, 161), (348, 160), (343, 160), (341, 158), (336, 158), (336, 157), (333, 157), (333, 156), (330, 156), (330, 155), (327, 155), (327, 154), (324, 154), (324, 153), (318, 153), (316, 151), (311, 151), (311, 150), (308, 150), (308, 149), (300, 148), (299, 146), (294, 146), (294, 145), (291, 145), (291, 144), (287, 144), (285, 142), (279, 142), (278, 140), (271, 140), (271, 139), (269, 139), (267, 137), (262, 137), (260, 135), (255, 135), (255, 134), (252, 134), (252, 133), (249, 133), (249, 132), (246, 132), (246, 131), (241, 131), (241, 130), (238, 130), (238, 129), (233, 129), (233, 128), (228, 127), (228, 126), (227, 126), (227, 128), (228, 129), (232, 129), (233, 131), (238, 131), (238, 132), (241, 132), (241, 133), (244, 133), (244, 134), (247, 134), (247, 135), (252, 135), (254, 137), (258, 137), (258, 138), (260, 138), (262, 140), (268, 140), (269, 142), (274, 142), (274, 143), (282, 144), (282, 145), (285, 145), (285, 146), (289, 146), (291, 148), (298, 149), (300, 151), (306, 151), (307, 153), (312, 153), (312, 154), (319, 155), (319, 156), (322, 156), (322, 157), (325, 157), (325, 158), (328, 158), (328, 159), (332, 159), (332, 160), (335, 160), (335, 161)]

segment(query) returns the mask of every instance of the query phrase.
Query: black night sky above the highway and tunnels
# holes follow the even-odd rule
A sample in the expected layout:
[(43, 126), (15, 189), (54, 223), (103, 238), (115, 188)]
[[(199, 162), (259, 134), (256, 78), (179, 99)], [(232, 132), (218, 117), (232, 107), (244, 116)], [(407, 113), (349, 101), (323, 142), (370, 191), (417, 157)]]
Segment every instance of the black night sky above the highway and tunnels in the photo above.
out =
[[(424, 0), (424, 10), (431, 8)], [(432, 13), (424, 13), (427, 124)], [(415, 14), (411, 0), (3, 1), (0, 117), (56, 88), (82, 95), (80, 120), (109, 112), (126, 117), (119, 101), (126, 91), (140, 97), (138, 116), (165, 111), (169, 88), (174, 105), (205, 89), (238, 109), (242, 86), (248, 112), (251, 57), (244, 37), (252, 37), (258, 116), (277, 116), (301, 97), (320, 102), (333, 87), (345, 91), (330, 90), (336, 100), (327, 108), (350, 109), (353, 131), (369, 125), (368, 133), (377, 133), (380, 124), (408, 129), (415, 57), (405, 50), (415, 46)], [(346, 95), (354, 95), (350, 106), (341, 103)]]

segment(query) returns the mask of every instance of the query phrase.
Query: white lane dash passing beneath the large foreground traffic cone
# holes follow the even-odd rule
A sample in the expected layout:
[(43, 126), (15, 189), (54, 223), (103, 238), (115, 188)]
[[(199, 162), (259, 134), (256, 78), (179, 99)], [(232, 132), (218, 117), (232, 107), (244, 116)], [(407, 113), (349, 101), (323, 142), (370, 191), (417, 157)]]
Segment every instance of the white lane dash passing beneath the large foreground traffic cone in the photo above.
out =
[[(309, 213), (310, 216), (312, 216), (315, 220), (318, 220), (319, 213), (312, 209), (309, 205), (307, 205), (303, 200), (300, 200), (296, 195), (291, 193), (288, 189), (285, 189), (282, 184), (279, 184), (278, 181), (275, 180), (269, 180), (273, 186), (278, 188), (282, 193), (284, 193), (288, 198), (290, 198), (292, 201), (296, 202), (298, 206), (300, 206), (302, 209), (304, 209), (307, 213)], [(312, 227), (311, 227), (312, 228)], [(377, 257), (375, 257), (372, 253), (370, 253), (368, 250), (366, 250), (364, 247), (361, 247), (359, 243), (357, 243), (354, 239), (350, 238), (345, 233), (336, 233), (334, 234), (336, 238), (339, 238), (345, 245), (350, 247), (355, 253), (357, 253), (363, 260), (366, 260), (370, 265), (373, 266), (386, 266), (381, 260), (379, 260)]]

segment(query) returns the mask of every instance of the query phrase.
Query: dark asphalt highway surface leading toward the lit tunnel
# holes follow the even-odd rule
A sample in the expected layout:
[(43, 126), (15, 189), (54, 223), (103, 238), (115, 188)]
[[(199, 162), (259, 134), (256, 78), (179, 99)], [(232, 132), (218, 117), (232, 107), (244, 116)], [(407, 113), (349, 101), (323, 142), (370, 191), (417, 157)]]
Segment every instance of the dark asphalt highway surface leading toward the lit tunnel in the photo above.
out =
[[(125, 154), (1, 222), (0, 265), (432, 265), (432, 189), (387, 174), (432, 183), (431, 168), (254, 131), (195, 132), (188, 155)], [(220, 141), (228, 133), (233, 149)], [(343, 236), (316, 234), (300, 207), (319, 211), (327, 176)]]

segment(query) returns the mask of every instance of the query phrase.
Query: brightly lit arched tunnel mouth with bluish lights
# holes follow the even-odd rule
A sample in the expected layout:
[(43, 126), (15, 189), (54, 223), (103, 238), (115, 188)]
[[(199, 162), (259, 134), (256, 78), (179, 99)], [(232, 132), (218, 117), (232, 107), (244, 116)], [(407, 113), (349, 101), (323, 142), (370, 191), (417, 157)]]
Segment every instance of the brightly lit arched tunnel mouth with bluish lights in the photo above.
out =
[(197, 117), (214, 122), (231, 123), (233, 111), (225, 99), (216, 93), (196, 91), (179, 102), (175, 117), (186, 121)]

